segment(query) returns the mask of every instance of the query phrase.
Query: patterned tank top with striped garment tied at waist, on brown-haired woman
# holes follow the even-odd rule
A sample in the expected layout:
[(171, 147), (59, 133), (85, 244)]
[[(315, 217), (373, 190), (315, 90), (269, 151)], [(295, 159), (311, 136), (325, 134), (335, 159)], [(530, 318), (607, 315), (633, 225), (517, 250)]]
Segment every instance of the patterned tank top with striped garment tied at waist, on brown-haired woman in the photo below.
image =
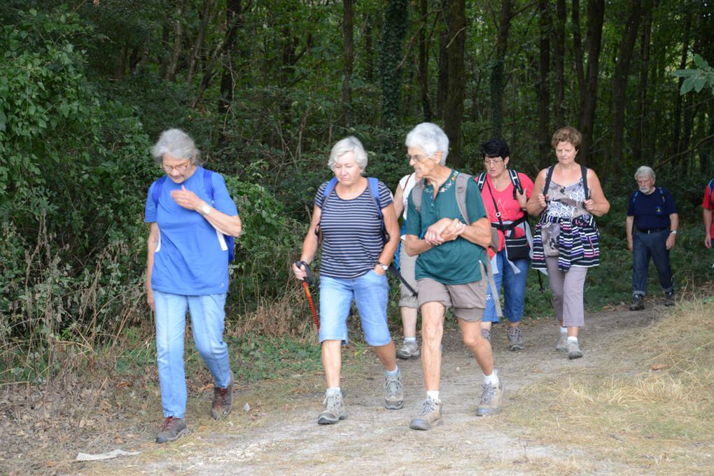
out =
[(558, 268), (591, 268), (600, 264), (600, 233), (595, 218), (583, 208), (580, 179), (567, 187), (553, 181), (545, 191), (550, 200), (533, 237), (533, 268), (545, 269), (545, 257), (558, 257)]

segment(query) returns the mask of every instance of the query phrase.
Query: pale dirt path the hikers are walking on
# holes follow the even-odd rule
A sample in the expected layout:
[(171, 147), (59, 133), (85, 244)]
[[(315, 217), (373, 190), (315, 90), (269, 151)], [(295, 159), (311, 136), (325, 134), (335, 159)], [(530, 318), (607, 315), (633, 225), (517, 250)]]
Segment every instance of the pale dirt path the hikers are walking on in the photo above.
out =
[[(458, 330), (448, 329), (441, 385), (444, 425), (433, 430), (408, 428), (424, 395), (421, 361), (400, 361), (405, 407), (390, 411), (381, 406), (381, 370), (374, 358), (368, 360), (366, 371), (343, 377), (348, 419), (338, 425), (316, 424), (322, 398), (317, 388), (304, 391), (298, 385), (292, 397), (270, 411), (245, 412), (238, 395), (236, 409), (225, 422), (198, 427), (171, 445), (146, 443), (136, 457), (77, 469), (87, 475), (621, 474), (626, 468), (598, 460), (596, 448), (564, 450), (529, 441), (523, 429), (511, 427), (501, 415), (511, 405), (528, 405), (527, 397), (517, 402), (509, 398), (524, 385), (567, 379), (603, 363), (612, 365), (613, 346), (652, 318), (651, 310), (588, 315), (580, 338), (585, 357), (573, 361), (555, 352), (558, 331), (553, 322), (525, 328), (526, 350), (520, 353), (506, 350), (505, 330), (498, 326), (493, 347), (496, 368), (506, 385), (506, 403), (503, 412), (493, 417), (475, 416), (483, 377), (461, 344)], [(620, 365), (628, 370), (626, 361)]]

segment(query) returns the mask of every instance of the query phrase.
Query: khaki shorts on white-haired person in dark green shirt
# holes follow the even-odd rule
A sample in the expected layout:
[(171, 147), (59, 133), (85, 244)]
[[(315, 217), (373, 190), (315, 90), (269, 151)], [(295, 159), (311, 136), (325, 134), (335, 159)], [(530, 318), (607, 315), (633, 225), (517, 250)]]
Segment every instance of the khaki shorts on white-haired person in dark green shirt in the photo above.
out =
[(443, 284), (431, 278), (421, 278), (419, 285), (419, 307), (436, 301), (445, 308), (453, 306), (454, 315), (466, 322), (481, 321), (486, 308), (486, 288), (488, 278), (481, 265), (481, 280), (466, 284)]

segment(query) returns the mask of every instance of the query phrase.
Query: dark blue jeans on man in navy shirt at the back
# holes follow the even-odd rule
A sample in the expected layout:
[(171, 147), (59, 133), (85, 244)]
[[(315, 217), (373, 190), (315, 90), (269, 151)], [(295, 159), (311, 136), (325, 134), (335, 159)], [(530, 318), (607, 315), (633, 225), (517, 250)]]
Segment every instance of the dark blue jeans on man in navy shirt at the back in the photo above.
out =
[(632, 237), (632, 294), (643, 296), (647, 294), (647, 270), (650, 267), (650, 257), (655, 262), (660, 286), (665, 293), (674, 290), (672, 267), (669, 263), (667, 237), (669, 230), (655, 233), (641, 233), (635, 230)]

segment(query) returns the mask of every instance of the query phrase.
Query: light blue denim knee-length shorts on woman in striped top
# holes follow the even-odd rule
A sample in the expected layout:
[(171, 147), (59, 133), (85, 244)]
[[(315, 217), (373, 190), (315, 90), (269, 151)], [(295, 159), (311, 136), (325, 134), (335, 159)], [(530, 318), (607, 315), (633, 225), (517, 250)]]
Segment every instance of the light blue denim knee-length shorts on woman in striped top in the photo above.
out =
[(389, 285), (386, 275), (373, 270), (353, 279), (320, 277), (320, 342), (341, 340), (347, 343), (347, 318), (352, 300), (362, 322), (364, 340), (379, 347), (391, 342), (387, 325)]

